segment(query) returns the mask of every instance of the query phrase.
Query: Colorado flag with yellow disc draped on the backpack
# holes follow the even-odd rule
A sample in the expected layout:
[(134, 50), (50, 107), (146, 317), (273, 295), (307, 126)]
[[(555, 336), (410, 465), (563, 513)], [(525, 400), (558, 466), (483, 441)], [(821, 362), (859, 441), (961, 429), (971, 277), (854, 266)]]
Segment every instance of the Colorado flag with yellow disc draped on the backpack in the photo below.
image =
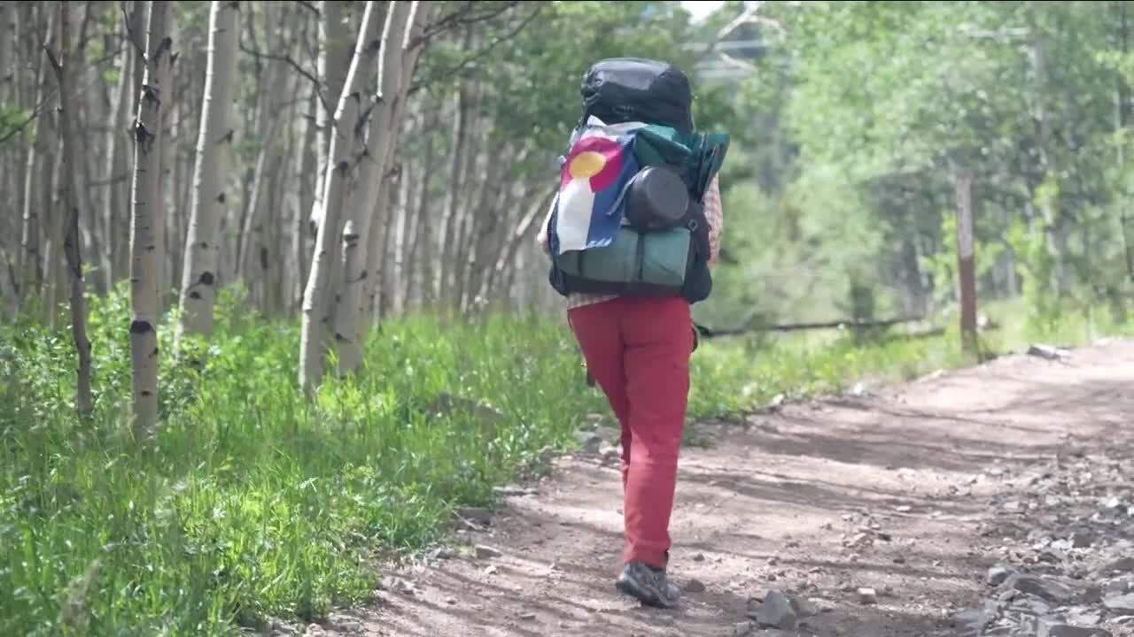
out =
[(609, 246), (613, 240), (623, 222), (623, 188), (638, 171), (634, 130), (643, 126), (607, 126), (591, 117), (572, 144), (559, 179), (559, 254)]

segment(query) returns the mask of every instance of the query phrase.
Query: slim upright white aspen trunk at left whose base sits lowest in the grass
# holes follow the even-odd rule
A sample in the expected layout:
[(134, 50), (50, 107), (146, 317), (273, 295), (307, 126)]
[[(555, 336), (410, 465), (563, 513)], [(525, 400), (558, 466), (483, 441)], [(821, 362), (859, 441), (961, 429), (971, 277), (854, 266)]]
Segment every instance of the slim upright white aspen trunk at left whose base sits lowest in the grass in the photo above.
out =
[[(169, 2), (150, 3), (145, 71), (134, 121), (134, 205), (130, 211), (130, 391), (134, 427), (153, 433), (158, 423), (158, 284), (154, 249), (156, 219), (164, 214), (158, 199), (161, 180), (161, 58), (169, 56)], [(142, 61), (139, 59), (139, 61)]]

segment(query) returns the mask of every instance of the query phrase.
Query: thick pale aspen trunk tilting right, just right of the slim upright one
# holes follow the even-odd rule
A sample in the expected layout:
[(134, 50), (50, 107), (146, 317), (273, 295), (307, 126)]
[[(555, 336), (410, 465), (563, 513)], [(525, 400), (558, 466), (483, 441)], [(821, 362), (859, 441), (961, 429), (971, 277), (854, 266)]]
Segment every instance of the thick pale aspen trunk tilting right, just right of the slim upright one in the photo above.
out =
[(209, 61), (193, 173), (189, 231), (185, 241), (178, 341), (184, 334), (212, 334), (219, 284), (220, 223), (228, 210), (228, 154), (232, 142), (229, 110), (236, 84), (239, 11), (237, 2), (213, 0), (209, 16)]

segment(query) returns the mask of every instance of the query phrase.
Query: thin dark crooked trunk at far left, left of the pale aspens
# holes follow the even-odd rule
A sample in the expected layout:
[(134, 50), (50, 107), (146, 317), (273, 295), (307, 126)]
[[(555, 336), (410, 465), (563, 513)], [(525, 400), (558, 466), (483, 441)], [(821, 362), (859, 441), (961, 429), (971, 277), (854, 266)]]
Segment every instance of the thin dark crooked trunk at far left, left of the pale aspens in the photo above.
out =
[[(78, 377), (75, 392), (75, 407), (81, 417), (91, 414), (91, 341), (86, 338), (86, 290), (83, 283), (83, 258), (79, 250), (78, 232), (78, 192), (75, 187), (77, 154), (75, 152), (74, 121), (75, 100), (70, 94), (70, 82), (76, 77), (71, 63), (81, 60), (70, 51), (70, 5), (59, 3), (58, 57), (51, 57), (51, 66), (56, 73), (58, 90), (57, 104), (59, 114), (60, 142), (60, 193), (59, 199), (64, 206), (60, 219), (64, 223), (64, 254), (67, 258), (68, 279), (70, 282), (71, 336), (75, 339), (75, 351), (78, 354)], [(82, 66), (76, 65), (76, 68)]]

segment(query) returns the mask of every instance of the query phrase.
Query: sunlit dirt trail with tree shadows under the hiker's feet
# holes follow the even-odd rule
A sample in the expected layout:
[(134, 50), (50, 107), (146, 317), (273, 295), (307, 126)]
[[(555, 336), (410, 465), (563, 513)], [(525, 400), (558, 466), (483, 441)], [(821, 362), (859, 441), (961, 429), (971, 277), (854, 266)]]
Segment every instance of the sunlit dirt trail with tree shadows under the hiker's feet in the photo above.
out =
[[(413, 594), (380, 591), (347, 623), (404, 637), (962, 635), (955, 614), (980, 605), (1007, 551), (999, 525), (1030, 524), (1027, 506), (1004, 504), (1021, 489), (1013, 476), (1129, 449), (1132, 422), (1134, 343), (1103, 341), (1060, 360), (1008, 356), (786, 406), (743, 426), (697, 425), (714, 442), (683, 451), (671, 578), (704, 589), (694, 584), (672, 611), (613, 588), (616, 466), (562, 458), (536, 494), (509, 498), (486, 529), (463, 534), (499, 555), (408, 568)], [(862, 603), (858, 587), (877, 603)], [(782, 632), (745, 625), (771, 588), (820, 612)]]

